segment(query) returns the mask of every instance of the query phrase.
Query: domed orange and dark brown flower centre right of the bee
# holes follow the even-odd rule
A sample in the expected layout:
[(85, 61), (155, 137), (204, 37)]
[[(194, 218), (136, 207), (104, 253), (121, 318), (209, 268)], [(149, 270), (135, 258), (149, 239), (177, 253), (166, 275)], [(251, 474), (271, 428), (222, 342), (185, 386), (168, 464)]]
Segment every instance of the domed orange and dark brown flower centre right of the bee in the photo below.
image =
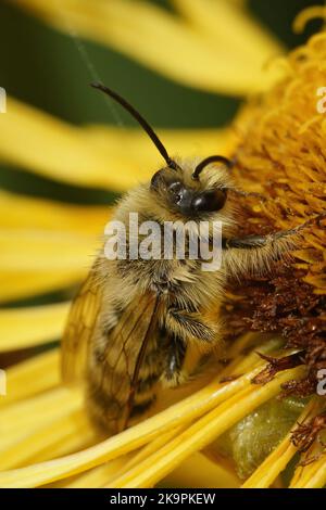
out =
[(321, 33), (290, 53), (287, 76), (235, 123), (235, 177), (262, 195), (241, 197), (243, 229), (260, 234), (308, 224), (289, 259), (233, 290), (238, 299), (227, 314), (238, 330), (279, 331), (286, 347), (302, 349), (309, 374), (285, 388), (297, 396), (315, 393), (317, 372), (326, 368), (325, 62)]

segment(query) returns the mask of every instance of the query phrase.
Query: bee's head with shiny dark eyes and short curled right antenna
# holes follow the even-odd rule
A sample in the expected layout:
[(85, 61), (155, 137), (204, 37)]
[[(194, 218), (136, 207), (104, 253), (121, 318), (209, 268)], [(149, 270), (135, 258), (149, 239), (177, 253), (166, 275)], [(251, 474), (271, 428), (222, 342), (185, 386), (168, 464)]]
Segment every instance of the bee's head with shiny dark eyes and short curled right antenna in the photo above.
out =
[[(224, 168), (221, 165), (217, 168), (216, 163), (223, 164)], [(183, 164), (173, 161), (173, 166), (153, 175), (150, 190), (180, 216), (196, 218), (216, 213), (223, 209), (227, 200), (225, 168), (229, 166), (230, 162), (223, 156), (206, 157), (196, 166), (192, 161)]]

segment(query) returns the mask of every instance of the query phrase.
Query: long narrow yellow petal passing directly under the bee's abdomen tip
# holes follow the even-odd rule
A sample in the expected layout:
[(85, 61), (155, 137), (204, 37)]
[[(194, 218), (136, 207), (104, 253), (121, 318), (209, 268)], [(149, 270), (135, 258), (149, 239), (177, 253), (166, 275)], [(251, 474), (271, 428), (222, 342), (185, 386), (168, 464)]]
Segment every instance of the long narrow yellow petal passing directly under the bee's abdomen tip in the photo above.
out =
[(161, 433), (168, 432), (170, 428), (176, 428), (187, 420), (193, 420), (205, 410), (215, 407), (218, 401), (223, 401), (240, 388), (248, 386), (258, 370), (227, 384), (212, 383), (165, 411), (84, 451), (28, 468), (2, 472), (0, 486), (32, 487), (43, 485), (135, 450)]

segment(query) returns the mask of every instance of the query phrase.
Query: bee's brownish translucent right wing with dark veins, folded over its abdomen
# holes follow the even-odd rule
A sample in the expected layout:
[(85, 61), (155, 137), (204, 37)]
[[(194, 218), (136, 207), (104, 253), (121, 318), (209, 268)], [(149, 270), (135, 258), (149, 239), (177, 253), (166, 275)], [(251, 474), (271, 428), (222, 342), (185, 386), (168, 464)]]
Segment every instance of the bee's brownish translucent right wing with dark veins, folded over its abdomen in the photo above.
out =
[(155, 345), (152, 341), (156, 324), (156, 297), (139, 296), (121, 314), (108, 336), (102, 353), (104, 362), (92, 370), (93, 397), (103, 407), (105, 421), (118, 422), (118, 430), (127, 424), (142, 377), (156, 370), (147, 360)]

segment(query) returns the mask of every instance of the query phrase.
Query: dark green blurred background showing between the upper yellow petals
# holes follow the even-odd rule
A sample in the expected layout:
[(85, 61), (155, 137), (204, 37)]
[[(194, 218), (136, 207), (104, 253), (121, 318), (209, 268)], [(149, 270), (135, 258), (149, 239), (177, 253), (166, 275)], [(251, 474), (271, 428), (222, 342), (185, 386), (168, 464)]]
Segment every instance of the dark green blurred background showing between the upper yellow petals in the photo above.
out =
[[(172, 10), (168, 0), (151, 1)], [(253, 15), (288, 48), (304, 42), (321, 27), (321, 22), (316, 21), (309, 24), (302, 36), (291, 30), (300, 10), (323, 4), (323, 1), (251, 0), (248, 3)], [(216, 127), (228, 123), (239, 106), (236, 99), (177, 85), (97, 43), (85, 41), (85, 47), (102, 81), (127, 97), (154, 126)], [(0, 3), (0, 85), (9, 94), (73, 124), (116, 124), (116, 106), (103, 109), (103, 98), (88, 87), (92, 77), (74, 39), (4, 0)], [(121, 109), (117, 111), (126, 126), (135, 125)], [(101, 190), (60, 184), (18, 169), (13, 173), (3, 165), (0, 166), (0, 186), (70, 202), (108, 203), (113, 199)]]

